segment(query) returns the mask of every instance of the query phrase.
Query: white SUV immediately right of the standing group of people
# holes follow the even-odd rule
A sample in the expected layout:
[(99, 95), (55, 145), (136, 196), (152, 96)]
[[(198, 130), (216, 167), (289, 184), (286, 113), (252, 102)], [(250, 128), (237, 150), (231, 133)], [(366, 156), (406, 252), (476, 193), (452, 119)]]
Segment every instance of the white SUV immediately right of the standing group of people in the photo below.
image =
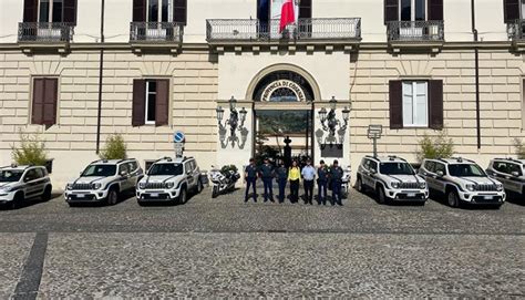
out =
[(397, 156), (363, 157), (358, 168), (356, 188), (359, 192), (375, 192), (380, 204), (391, 200), (424, 204), (429, 198), (424, 178), (416, 175), (405, 159)]

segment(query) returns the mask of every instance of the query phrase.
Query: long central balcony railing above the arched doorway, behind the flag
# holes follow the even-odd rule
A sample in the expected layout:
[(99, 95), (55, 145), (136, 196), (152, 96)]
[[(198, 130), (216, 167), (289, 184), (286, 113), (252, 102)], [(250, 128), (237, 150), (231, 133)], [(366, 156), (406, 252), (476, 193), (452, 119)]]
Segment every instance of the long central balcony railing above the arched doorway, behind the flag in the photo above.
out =
[(299, 19), (279, 32), (280, 20), (212, 19), (206, 40), (213, 42), (267, 42), (279, 40), (361, 40), (360, 18)]

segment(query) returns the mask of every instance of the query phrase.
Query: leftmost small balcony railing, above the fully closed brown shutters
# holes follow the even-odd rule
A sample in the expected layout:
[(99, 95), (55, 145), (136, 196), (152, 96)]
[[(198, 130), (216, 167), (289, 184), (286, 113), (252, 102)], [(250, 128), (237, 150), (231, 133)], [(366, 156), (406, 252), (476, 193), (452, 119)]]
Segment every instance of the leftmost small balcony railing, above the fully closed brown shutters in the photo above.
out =
[(73, 40), (73, 23), (22, 22), (18, 24), (19, 42), (69, 43)]

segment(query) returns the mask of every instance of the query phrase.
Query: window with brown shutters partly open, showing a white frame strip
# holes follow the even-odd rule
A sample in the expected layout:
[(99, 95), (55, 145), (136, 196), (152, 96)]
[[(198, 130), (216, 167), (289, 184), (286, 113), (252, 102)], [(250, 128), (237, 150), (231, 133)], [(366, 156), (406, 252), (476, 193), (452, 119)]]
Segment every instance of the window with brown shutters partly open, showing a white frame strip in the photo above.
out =
[(133, 81), (133, 126), (167, 125), (169, 118), (169, 81)]

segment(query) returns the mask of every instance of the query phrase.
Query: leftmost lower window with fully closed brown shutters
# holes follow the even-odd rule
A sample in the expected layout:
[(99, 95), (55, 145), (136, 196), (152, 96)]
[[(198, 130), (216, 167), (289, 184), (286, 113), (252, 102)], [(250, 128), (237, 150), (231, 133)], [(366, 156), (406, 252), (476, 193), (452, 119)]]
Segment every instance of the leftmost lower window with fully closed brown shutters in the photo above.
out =
[(58, 79), (34, 79), (31, 124), (56, 123)]

